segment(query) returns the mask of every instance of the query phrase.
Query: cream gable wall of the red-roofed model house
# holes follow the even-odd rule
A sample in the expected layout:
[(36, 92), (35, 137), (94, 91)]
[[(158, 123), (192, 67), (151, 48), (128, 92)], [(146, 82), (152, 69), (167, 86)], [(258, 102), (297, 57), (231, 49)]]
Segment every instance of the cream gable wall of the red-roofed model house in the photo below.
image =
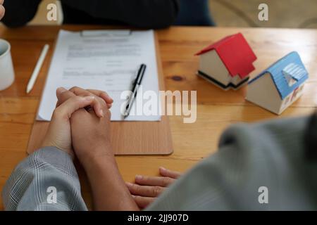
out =
[(218, 82), (221, 82), (224, 85), (228, 85), (230, 83), (237, 85), (242, 81), (239, 75), (235, 75), (235, 77), (230, 75), (229, 71), (215, 50), (208, 51), (200, 56), (199, 70), (204, 72), (206, 75), (213, 77), (213, 79), (216, 79)]

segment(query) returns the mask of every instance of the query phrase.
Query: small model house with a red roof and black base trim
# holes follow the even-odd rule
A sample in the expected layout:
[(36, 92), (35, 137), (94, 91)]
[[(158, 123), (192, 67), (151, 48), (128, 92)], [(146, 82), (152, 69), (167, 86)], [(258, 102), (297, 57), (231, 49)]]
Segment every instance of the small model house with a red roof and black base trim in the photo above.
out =
[(199, 51), (197, 75), (222, 89), (238, 89), (247, 84), (256, 55), (241, 33), (225, 37)]

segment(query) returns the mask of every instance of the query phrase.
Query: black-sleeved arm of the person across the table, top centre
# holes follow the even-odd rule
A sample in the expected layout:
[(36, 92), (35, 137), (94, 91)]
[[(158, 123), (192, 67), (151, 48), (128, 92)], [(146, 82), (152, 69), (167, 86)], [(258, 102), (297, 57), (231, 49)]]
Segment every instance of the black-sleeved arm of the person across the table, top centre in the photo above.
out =
[(62, 0), (72, 8), (94, 18), (117, 20), (144, 28), (163, 28), (173, 24), (178, 15), (178, 0)]

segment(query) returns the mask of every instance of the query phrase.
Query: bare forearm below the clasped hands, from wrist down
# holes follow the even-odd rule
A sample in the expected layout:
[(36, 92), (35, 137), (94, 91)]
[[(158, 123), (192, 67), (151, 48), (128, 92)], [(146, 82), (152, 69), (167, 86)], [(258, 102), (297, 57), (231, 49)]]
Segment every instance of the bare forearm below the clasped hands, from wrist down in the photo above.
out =
[(113, 156), (91, 158), (84, 168), (92, 188), (94, 210), (138, 210)]

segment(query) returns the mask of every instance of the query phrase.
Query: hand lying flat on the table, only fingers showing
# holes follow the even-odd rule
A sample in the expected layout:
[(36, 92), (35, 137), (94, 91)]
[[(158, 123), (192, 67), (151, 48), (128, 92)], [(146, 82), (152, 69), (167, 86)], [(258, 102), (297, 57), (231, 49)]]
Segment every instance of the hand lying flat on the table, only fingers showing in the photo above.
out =
[(128, 189), (140, 209), (153, 203), (170, 184), (181, 175), (163, 167), (159, 168), (161, 176), (135, 176), (135, 184), (126, 182)]

